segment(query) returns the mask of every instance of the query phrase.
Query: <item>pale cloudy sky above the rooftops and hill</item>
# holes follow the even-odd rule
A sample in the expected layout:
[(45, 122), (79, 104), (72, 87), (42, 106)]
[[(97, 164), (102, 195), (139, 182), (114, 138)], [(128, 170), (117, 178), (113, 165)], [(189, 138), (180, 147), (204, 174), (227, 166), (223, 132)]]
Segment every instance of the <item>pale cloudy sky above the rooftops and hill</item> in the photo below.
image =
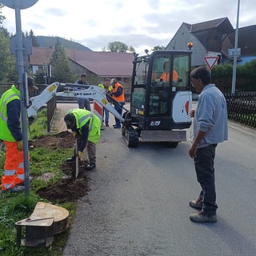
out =
[[(256, 24), (255, 5), (240, 1), (239, 27)], [(227, 17), (235, 28), (237, 11), (238, 0), (38, 0), (21, 18), (23, 32), (72, 39), (95, 51), (120, 41), (142, 54), (166, 46), (182, 22)], [(3, 26), (15, 34), (15, 11), (4, 7), (2, 14)]]

